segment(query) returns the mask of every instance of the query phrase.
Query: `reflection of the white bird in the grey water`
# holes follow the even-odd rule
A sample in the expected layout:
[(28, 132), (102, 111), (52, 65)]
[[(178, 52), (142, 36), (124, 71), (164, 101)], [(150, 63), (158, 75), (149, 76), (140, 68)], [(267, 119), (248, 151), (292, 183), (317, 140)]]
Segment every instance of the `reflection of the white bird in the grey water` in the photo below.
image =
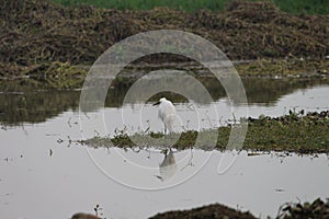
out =
[(175, 164), (175, 160), (173, 157), (173, 152), (171, 149), (169, 149), (168, 154), (167, 154), (167, 152), (168, 151), (164, 151), (164, 159), (159, 164), (160, 175), (157, 175), (157, 177), (160, 178), (161, 181), (168, 181), (177, 172), (177, 164)]

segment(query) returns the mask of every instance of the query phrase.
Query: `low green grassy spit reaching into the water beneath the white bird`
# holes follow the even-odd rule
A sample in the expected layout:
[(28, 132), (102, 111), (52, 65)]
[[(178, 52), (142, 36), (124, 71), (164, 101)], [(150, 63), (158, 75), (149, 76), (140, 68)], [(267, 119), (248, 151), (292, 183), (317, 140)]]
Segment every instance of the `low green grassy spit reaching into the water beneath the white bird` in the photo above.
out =
[[(299, 113), (291, 112), (282, 117), (261, 116), (258, 119), (249, 118), (248, 122), (249, 127), (243, 143), (245, 150), (329, 153), (329, 111), (308, 113), (307, 115), (304, 115), (303, 111)], [(219, 127), (215, 130), (218, 134), (216, 149), (226, 149), (230, 130), (231, 126)], [(204, 141), (200, 145), (201, 149), (208, 149), (208, 146), (204, 142), (207, 142), (207, 137), (213, 137), (213, 134), (212, 130), (203, 131)], [(162, 138), (161, 134), (137, 134), (131, 137), (121, 134), (114, 138), (94, 137), (83, 141), (83, 143), (93, 148), (113, 146), (121, 148), (163, 147), (177, 135), (172, 134), (172, 136)], [(182, 132), (173, 147), (177, 149), (194, 147), (197, 135), (197, 131)], [(158, 138), (157, 145), (150, 141), (148, 137)], [(137, 146), (131, 139), (134, 139), (134, 142), (144, 142), (144, 145)]]

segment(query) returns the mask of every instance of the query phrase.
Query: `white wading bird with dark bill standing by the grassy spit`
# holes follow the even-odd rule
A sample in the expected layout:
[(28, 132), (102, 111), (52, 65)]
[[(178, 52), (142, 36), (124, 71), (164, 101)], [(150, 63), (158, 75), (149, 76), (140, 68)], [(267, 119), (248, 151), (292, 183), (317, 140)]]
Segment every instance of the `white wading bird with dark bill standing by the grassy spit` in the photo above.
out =
[(175, 108), (171, 101), (168, 101), (166, 97), (162, 97), (159, 102), (155, 103), (154, 105), (159, 105), (159, 118), (164, 125), (164, 134), (167, 134), (167, 129), (169, 130), (169, 132), (172, 132), (173, 123), (175, 119)]

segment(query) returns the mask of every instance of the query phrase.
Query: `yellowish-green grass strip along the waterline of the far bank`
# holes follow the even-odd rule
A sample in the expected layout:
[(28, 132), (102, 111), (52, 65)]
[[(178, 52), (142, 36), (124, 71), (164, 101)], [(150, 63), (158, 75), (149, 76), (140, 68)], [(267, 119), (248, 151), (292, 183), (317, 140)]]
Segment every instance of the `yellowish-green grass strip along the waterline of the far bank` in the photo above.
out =
[[(170, 65), (151, 65), (147, 64), (123, 69), (117, 80), (126, 81), (129, 85), (139, 77), (160, 69), (179, 69), (200, 77), (214, 77), (206, 68), (201, 65), (191, 64), (170, 64)], [(235, 69), (241, 78), (281, 78), (281, 79), (322, 79), (324, 82), (329, 80), (329, 59), (327, 60), (283, 60), (283, 59), (259, 59), (250, 62), (234, 64)], [(35, 88), (43, 89), (80, 89), (83, 85), (84, 78), (88, 74), (90, 66), (70, 65), (68, 62), (44, 62), (29, 67), (18, 65), (1, 64), (0, 80), (2, 81), (26, 81), (34, 84)], [(219, 84), (220, 85), (220, 84)]]

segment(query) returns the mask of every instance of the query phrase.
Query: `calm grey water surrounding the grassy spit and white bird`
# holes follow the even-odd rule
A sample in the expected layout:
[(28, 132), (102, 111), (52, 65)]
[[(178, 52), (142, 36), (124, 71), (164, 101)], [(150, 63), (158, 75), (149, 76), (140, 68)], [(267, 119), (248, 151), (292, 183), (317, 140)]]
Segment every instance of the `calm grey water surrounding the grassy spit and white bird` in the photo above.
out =
[[(265, 92), (259, 91), (260, 85)], [(273, 80), (269, 85), (251, 81), (246, 90), (249, 115), (254, 117), (279, 116), (294, 107), (329, 107), (329, 87), (321, 81)], [(329, 161), (325, 154), (251, 157), (246, 151), (185, 150), (173, 151), (166, 160), (158, 150), (93, 149), (70, 141), (117, 131), (162, 130), (157, 108), (150, 103), (122, 106), (122, 99), (112, 95), (116, 99), (110, 94), (105, 108), (79, 116), (79, 91), (2, 88), (0, 218), (69, 218), (77, 211), (93, 212), (98, 204), (106, 218), (147, 218), (211, 203), (274, 217), (285, 201), (329, 197)], [(207, 105), (177, 101), (181, 123), (177, 130), (229, 123), (232, 116), (225, 95), (214, 90), (212, 96), (216, 100), (212, 104), (220, 112), (217, 120), (211, 111), (203, 112)], [(239, 105), (235, 116), (246, 107)], [(136, 115), (141, 116), (135, 119)], [(196, 117), (198, 122), (194, 123)], [(237, 159), (228, 171), (218, 174), (223, 155)], [(161, 168), (166, 162), (171, 163), (170, 169)], [(132, 163), (137, 169), (129, 166)]]

